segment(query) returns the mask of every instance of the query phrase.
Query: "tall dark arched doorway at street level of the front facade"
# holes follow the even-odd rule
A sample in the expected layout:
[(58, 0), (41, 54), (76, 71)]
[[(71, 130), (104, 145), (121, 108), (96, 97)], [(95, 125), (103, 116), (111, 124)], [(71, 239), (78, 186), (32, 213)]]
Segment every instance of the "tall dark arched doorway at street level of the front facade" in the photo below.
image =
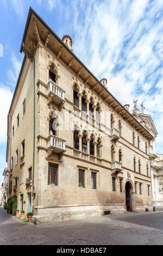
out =
[(126, 210), (136, 212), (134, 185), (130, 179), (126, 180), (125, 194), (126, 194), (125, 196)]

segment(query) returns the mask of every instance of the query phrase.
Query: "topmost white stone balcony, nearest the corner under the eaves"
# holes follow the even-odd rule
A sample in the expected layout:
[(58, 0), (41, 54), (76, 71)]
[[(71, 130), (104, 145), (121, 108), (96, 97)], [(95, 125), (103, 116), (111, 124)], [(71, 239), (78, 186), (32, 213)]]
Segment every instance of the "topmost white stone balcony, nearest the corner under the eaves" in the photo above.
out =
[(48, 105), (54, 102), (57, 105), (63, 105), (65, 103), (65, 90), (60, 88), (57, 83), (54, 83), (51, 79), (47, 83), (47, 97)]

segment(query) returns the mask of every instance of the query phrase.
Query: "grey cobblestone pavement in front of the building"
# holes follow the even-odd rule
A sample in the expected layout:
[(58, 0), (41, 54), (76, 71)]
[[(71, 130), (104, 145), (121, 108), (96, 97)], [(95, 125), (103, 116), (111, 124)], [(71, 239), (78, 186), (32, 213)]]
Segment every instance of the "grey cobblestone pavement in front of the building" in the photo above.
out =
[(163, 211), (34, 225), (0, 206), (0, 245), (163, 245)]

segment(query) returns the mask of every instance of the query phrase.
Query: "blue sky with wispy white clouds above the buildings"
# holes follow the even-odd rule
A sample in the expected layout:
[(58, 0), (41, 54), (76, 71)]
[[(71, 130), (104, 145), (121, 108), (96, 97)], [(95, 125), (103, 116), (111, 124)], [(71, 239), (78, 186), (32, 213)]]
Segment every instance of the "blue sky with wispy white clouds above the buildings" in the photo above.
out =
[[(0, 0), (0, 185), (5, 163), (7, 114), (23, 53), (20, 46), (29, 6), (60, 38), (68, 34), (73, 52), (122, 104), (141, 101), (151, 114), (163, 153), (162, 0)], [(0, 56), (2, 56), (0, 47)]]

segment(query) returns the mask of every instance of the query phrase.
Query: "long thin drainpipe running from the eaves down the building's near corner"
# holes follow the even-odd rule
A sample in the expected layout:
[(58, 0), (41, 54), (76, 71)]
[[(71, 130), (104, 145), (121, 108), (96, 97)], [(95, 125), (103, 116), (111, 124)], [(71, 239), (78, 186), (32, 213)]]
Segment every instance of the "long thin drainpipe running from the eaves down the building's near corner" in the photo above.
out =
[[(28, 52), (28, 54), (32, 57), (33, 59), (33, 109), (34, 109), (34, 114), (33, 114), (33, 175), (32, 175), (32, 187), (34, 186), (34, 170), (35, 170), (35, 58), (34, 56), (26, 49), (23, 43), (23, 48)], [(34, 199), (32, 197), (32, 215), (33, 215), (33, 208), (34, 208)]]

